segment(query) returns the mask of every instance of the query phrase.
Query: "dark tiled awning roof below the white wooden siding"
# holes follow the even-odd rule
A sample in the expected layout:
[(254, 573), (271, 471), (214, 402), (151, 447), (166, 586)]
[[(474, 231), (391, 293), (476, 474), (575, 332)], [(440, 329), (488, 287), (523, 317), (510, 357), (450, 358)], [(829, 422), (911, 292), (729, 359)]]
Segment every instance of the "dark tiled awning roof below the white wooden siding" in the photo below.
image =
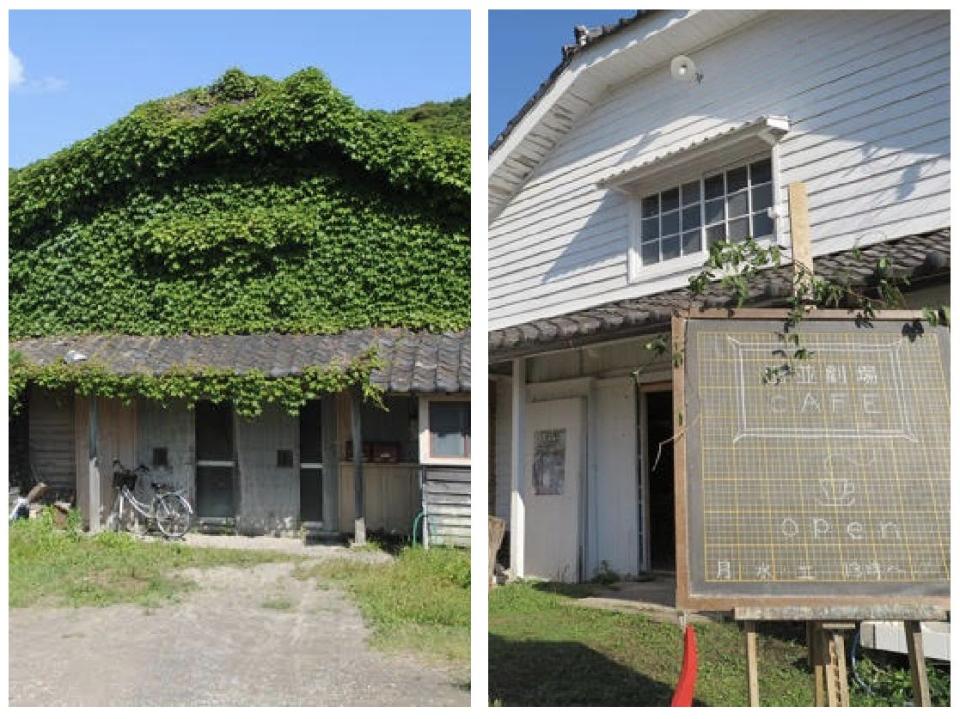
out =
[[(875, 278), (877, 260), (886, 256), (891, 272), (900, 277), (916, 281), (950, 276), (950, 228), (880, 242), (859, 252), (859, 258), (854, 250), (818, 256), (814, 258), (814, 269), (826, 279), (846, 277), (854, 286), (869, 286)], [(766, 270), (751, 281), (749, 302), (775, 303), (789, 296), (791, 287), (790, 265)], [(660, 331), (669, 327), (675, 310), (690, 306), (691, 299), (690, 291), (684, 287), (492, 330), (487, 334), (490, 360)], [(698, 304), (706, 307), (724, 307), (732, 302), (731, 294), (719, 283), (713, 283), (698, 298)]]

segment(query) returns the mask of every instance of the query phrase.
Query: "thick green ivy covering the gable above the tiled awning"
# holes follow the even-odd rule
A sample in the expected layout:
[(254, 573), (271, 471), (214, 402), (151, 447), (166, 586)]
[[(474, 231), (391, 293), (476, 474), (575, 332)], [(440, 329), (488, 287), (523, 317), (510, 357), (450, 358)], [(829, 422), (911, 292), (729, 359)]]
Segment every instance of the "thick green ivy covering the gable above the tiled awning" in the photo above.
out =
[(11, 172), (10, 334), (469, 321), (469, 143), (228, 71)]

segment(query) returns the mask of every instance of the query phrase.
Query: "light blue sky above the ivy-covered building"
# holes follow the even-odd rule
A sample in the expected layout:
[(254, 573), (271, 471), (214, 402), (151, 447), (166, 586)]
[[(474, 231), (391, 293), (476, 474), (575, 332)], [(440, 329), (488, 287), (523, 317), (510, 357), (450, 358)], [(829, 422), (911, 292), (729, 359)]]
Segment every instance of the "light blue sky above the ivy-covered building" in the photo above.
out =
[(313, 65), (384, 110), (470, 91), (466, 11), (14, 11), (10, 50), (22, 70), (10, 94), (13, 167), (233, 66), (282, 78)]

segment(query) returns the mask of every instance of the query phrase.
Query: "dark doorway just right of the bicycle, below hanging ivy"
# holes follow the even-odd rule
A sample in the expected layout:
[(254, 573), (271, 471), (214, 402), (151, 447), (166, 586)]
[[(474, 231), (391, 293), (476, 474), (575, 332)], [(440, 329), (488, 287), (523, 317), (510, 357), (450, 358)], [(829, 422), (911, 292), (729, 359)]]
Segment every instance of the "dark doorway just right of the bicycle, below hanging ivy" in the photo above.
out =
[(233, 407), (197, 402), (197, 515), (230, 518), (234, 508)]

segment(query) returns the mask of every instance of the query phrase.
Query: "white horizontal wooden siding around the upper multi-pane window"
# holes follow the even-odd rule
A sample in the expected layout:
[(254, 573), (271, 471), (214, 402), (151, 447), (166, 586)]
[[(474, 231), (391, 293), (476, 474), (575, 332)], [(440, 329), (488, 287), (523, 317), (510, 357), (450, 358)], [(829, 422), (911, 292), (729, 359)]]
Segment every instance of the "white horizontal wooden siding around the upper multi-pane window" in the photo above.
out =
[(779, 179), (808, 184), (815, 254), (949, 225), (949, 44), (946, 12), (774, 12), (693, 52), (701, 85), (618, 85), (492, 221), (490, 326), (684, 285), (628, 282), (628, 201), (596, 182), (760, 115), (790, 118)]

